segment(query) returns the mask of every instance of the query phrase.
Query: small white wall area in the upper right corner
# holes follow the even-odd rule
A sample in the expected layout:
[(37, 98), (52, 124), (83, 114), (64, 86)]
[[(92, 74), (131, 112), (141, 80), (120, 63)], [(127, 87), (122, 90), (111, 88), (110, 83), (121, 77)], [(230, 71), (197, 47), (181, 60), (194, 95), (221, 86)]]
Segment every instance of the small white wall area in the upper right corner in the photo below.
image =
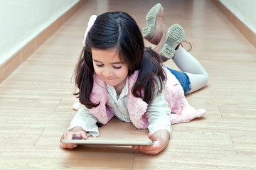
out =
[(255, 0), (220, 0), (220, 2), (256, 34)]

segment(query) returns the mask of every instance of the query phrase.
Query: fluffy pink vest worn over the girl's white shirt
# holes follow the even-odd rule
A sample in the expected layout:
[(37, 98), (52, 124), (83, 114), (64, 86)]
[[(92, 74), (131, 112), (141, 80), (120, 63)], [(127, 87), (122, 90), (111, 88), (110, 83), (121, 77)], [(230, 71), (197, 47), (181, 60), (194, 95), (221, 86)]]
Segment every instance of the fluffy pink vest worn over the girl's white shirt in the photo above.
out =
[[(164, 68), (164, 67), (163, 67)], [(176, 77), (174, 77), (168, 69), (164, 68), (167, 81), (165, 81), (165, 99), (169, 103), (171, 108), (171, 124), (189, 122), (194, 118), (201, 118), (206, 113), (205, 109), (196, 110), (189, 105), (188, 101), (184, 96), (183, 89), (179, 84)], [(129, 77), (129, 101), (128, 101), (128, 113), (129, 118), (136, 128), (146, 129), (149, 125), (146, 120), (146, 109), (148, 104), (142, 100), (142, 98), (136, 98), (132, 95), (131, 89), (134, 82), (137, 80), (138, 72), (136, 71)], [(89, 109), (90, 112), (95, 115), (97, 120), (106, 124), (114, 115), (107, 108), (108, 96), (107, 86), (97, 74), (94, 74), (94, 84), (92, 88), (92, 94), (90, 96), (92, 103), (99, 103), (100, 105), (96, 108)]]

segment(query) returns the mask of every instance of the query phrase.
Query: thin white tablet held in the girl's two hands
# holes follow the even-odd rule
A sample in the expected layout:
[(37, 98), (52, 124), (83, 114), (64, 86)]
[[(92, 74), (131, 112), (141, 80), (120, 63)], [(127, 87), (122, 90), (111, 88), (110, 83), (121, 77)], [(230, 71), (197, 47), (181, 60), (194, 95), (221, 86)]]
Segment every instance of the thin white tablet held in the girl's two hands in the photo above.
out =
[(75, 145), (118, 145), (118, 146), (132, 146), (132, 145), (149, 146), (153, 144), (151, 140), (62, 140), (62, 142), (75, 144)]

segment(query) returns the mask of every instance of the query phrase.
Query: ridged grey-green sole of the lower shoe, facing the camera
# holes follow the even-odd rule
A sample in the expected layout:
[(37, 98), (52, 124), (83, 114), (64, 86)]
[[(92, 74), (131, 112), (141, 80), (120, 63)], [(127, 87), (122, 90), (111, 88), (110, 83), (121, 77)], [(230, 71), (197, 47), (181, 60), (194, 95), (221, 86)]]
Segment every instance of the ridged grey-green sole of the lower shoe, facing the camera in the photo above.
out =
[(159, 54), (166, 57), (166, 59), (174, 57), (176, 52), (175, 48), (183, 41), (184, 36), (184, 30), (180, 25), (176, 23), (171, 26), (167, 32), (166, 40), (164, 41), (164, 45), (161, 47)]

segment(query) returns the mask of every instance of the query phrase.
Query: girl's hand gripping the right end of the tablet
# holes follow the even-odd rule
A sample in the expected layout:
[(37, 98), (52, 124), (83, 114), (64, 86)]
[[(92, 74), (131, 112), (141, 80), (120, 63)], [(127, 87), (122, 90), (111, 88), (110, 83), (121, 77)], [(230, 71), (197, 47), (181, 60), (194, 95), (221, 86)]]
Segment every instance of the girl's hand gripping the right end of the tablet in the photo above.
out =
[(158, 130), (154, 134), (149, 132), (149, 139), (153, 144), (150, 146), (132, 146), (142, 154), (159, 154), (159, 152), (166, 149), (169, 144), (170, 134), (167, 130)]

